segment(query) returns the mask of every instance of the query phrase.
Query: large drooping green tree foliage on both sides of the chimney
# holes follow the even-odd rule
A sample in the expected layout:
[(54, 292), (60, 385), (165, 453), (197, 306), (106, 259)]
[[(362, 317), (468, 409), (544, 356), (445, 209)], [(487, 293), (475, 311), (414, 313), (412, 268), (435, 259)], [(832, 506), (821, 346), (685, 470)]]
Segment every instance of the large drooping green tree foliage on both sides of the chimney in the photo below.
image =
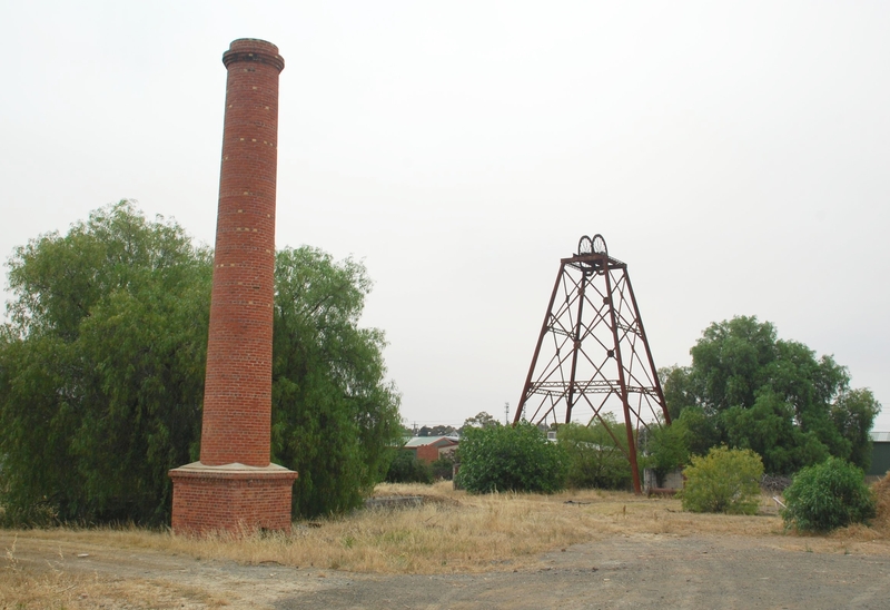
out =
[[(165, 522), (168, 470), (198, 457), (210, 252), (121, 201), (8, 266), (6, 518)], [(383, 335), (357, 327), (370, 283), (310, 248), (279, 254), (277, 273), (274, 457), (300, 472), (299, 513), (345, 510), (382, 476), (399, 424)]]

